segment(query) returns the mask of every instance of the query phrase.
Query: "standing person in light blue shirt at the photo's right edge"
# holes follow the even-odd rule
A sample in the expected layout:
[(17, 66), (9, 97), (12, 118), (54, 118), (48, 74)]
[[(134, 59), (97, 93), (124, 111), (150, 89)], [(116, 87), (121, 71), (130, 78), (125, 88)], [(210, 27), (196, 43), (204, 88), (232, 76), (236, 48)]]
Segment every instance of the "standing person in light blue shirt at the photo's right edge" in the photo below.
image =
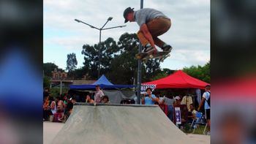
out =
[(203, 98), (202, 101), (200, 102), (199, 107), (197, 108), (197, 111), (200, 111), (201, 107), (204, 104), (205, 110), (206, 110), (206, 119), (207, 119), (207, 126), (208, 126), (208, 132), (210, 132), (211, 130), (211, 119), (210, 119), (210, 112), (211, 112), (211, 102), (210, 102), (210, 98), (211, 98), (211, 86), (207, 85), (205, 87), (205, 91), (203, 93)]

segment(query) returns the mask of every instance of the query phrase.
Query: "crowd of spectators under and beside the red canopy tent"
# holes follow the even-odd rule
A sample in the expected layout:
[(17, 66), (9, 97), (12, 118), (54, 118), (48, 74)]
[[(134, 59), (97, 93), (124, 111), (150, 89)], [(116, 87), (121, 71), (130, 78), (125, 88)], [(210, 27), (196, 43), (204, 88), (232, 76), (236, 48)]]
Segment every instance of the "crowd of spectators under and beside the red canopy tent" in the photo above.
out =
[[(196, 119), (196, 113), (204, 113), (206, 115), (208, 132), (210, 132), (211, 127), (211, 86), (207, 85), (205, 87), (205, 92), (203, 93), (203, 98), (195, 109), (195, 102), (189, 96), (172, 96), (167, 93), (165, 96), (161, 96), (159, 92), (152, 92), (151, 88), (146, 88), (146, 93), (142, 95), (142, 105), (159, 105), (165, 112), (167, 117), (173, 123), (176, 123), (174, 118), (174, 107), (180, 107), (181, 110), (181, 125), (191, 124), (193, 120)], [(203, 107), (203, 108), (202, 108)], [(205, 110), (203, 112), (203, 109)]]

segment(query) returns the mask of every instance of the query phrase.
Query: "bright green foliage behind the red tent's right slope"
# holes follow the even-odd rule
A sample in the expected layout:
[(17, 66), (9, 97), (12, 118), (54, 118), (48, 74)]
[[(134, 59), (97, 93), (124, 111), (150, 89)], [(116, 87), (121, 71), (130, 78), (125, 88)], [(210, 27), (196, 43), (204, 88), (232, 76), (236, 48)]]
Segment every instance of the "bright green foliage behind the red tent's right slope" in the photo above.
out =
[(183, 69), (183, 71), (186, 72), (187, 75), (196, 77), (197, 79), (203, 80), (206, 83), (211, 83), (210, 70), (211, 70), (210, 61), (207, 64), (205, 64), (203, 67), (192, 66), (192, 67), (185, 67)]

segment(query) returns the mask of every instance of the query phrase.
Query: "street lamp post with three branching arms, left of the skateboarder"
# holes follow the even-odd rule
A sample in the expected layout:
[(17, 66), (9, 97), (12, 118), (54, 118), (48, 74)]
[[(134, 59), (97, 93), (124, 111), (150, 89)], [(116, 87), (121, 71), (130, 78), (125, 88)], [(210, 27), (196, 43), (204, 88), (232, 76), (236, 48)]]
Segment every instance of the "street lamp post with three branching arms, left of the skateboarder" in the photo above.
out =
[(101, 56), (100, 56), (100, 54), (101, 54), (101, 48), (102, 48), (102, 44), (101, 44), (101, 39), (102, 39), (102, 31), (103, 30), (107, 30), (107, 29), (115, 29), (115, 28), (122, 28), (122, 27), (124, 27), (124, 26), (126, 26), (126, 25), (123, 25), (123, 26), (113, 26), (113, 27), (110, 27), (110, 28), (105, 28), (105, 29), (103, 29), (104, 28), (104, 26), (108, 23), (108, 21), (110, 21), (110, 20), (112, 20), (113, 18), (112, 17), (110, 17), (110, 18), (108, 18), (108, 20), (107, 20), (107, 22), (102, 26), (102, 28), (97, 28), (97, 27), (95, 27), (95, 26), (92, 26), (92, 25), (90, 25), (90, 24), (88, 24), (88, 23), (85, 23), (85, 22), (83, 22), (83, 21), (81, 21), (81, 20), (78, 20), (78, 19), (75, 19), (75, 21), (77, 21), (78, 23), (83, 23), (83, 24), (86, 24), (87, 26), (90, 26), (92, 29), (97, 29), (97, 30), (99, 30), (99, 64), (98, 64), (98, 78), (99, 78), (99, 75), (100, 75), (100, 60), (101, 60)]

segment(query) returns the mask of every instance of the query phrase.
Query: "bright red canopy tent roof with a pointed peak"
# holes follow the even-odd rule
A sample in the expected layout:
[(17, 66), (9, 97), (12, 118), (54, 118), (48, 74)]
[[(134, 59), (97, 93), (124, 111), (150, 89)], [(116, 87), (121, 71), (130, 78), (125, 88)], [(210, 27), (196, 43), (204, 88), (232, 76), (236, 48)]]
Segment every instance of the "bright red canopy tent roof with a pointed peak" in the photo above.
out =
[(157, 85), (156, 88), (205, 88), (209, 83), (198, 80), (178, 70), (165, 78), (142, 83), (142, 85)]

